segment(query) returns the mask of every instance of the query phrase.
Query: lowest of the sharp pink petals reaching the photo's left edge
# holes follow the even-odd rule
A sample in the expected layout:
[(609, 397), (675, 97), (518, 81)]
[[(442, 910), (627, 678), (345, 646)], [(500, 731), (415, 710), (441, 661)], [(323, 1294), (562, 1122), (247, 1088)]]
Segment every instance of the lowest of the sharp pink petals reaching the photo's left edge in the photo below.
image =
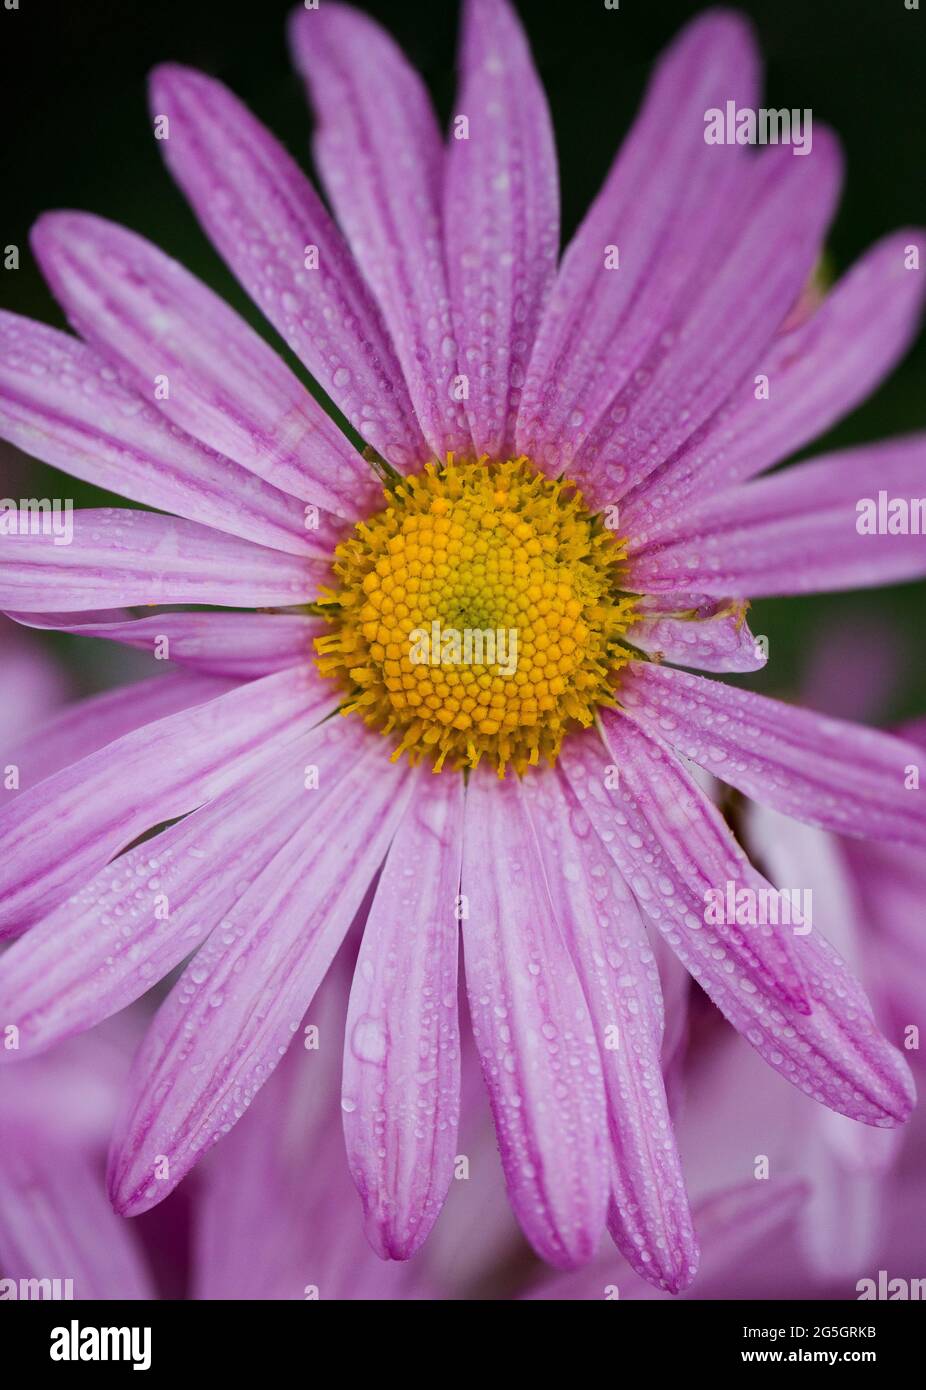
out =
[(63, 1037), (140, 998), (232, 912), (242, 883), (264, 873), (306, 819), (353, 741), (346, 720), (317, 726), (179, 824), (129, 849), (0, 956), (0, 1016), (19, 1029), (8, 1061), (42, 1052)]

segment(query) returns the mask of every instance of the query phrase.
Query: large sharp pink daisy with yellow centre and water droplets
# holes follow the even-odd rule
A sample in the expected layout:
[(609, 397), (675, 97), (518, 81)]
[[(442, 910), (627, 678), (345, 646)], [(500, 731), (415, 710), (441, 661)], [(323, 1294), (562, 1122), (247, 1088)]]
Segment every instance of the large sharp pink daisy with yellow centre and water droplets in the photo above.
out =
[[(192, 956), (111, 1150), (117, 1211), (146, 1211), (243, 1115), (360, 915), (348, 1162), (374, 1248), (407, 1258), (452, 1180), (462, 937), (527, 1237), (571, 1268), (608, 1227), (679, 1290), (697, 1245), (653, 937), (806, 1095), (883, 1127), (913, 1101), (816, 929), (706, 920), (710, 892), (766, 884), (691, 764), (825, 830), (922, 847), (919, 753), (677, 667), (756, 670), (751, 596), (926, 570), (920, 538), (855, 527), (858, 498), (918, 488), (923, 436), (756, 481), (904, 352), (922, 234), (791, 317), (840, 158), (819, 126), (801, 158), (705, 143), (706, 110), (759, 100), (730, 15), (660, 61), (562, 260), (549, 115), (505, 0), (464, 6), (446, 143), (370, 19), (300, 10), (292, 43), (336, 224), (218, 82), (159, 70), (154, 129), (368, 461), (216, 295), (99, 218), (33, 234), (79, 339), (1, 321), (0, 432), (160, 510), (78, 513), (71, 545), (0, 538), (0, 603), (186, 669), (86, 720), (86, 756), (3, 812), (0, 929), (28, 929), (0, 960), (3, 1056)], [(516, 662), (467, 660), (466, 634), (513, 634)]]

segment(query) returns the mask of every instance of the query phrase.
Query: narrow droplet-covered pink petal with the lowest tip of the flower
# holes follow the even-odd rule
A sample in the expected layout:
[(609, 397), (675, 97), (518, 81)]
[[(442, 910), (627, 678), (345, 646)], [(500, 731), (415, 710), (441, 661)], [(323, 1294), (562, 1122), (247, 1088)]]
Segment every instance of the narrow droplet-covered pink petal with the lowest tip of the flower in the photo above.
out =
[(698, 1245), (662, 1079), (656, 956), (566, 778), (527, 777), (523, 790), (598, 1037), (615, 1170), (609, 1229), (638, 1275), (679, 1293), (695, 1275)]

